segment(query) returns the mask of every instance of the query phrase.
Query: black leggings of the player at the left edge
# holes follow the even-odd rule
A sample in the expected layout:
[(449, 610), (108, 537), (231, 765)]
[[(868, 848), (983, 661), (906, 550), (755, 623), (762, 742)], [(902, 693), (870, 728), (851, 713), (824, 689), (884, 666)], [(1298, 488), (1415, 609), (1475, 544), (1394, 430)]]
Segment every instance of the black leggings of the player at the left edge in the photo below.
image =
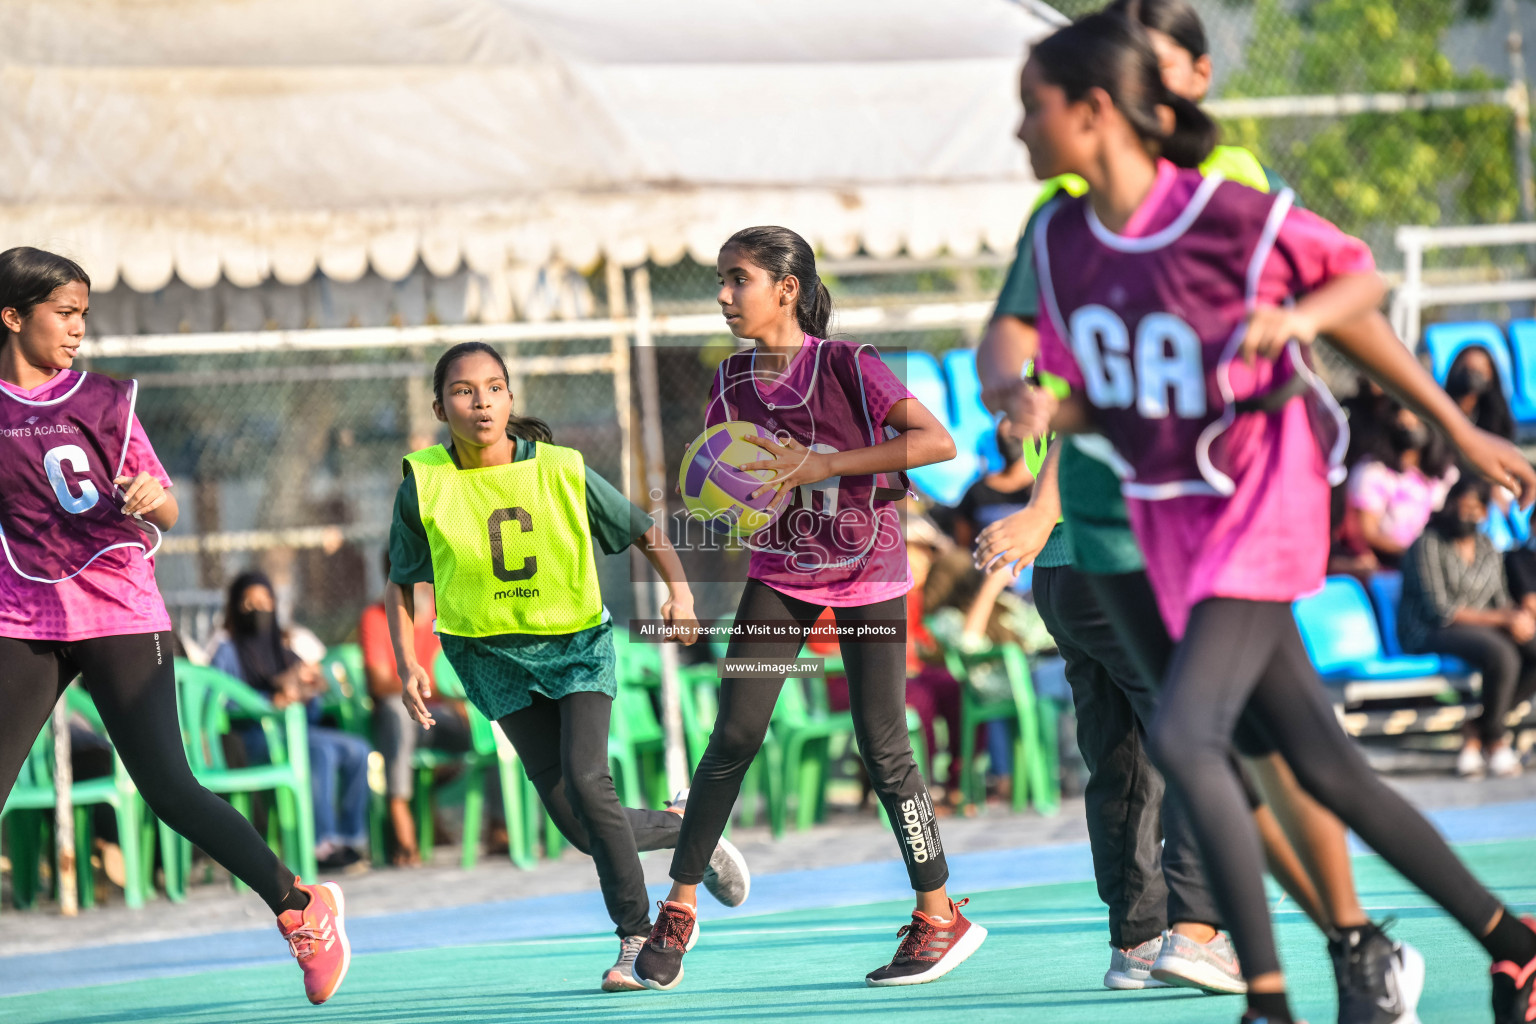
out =
[[(80, 676), (134, 785), (161, 821), (284, 910), (293, 872), (187, 768), (169, 633), (91, 640), (0, 637), (0, 803), (69, 680)], [(126, 837), (124, 837), (126, 838)]]

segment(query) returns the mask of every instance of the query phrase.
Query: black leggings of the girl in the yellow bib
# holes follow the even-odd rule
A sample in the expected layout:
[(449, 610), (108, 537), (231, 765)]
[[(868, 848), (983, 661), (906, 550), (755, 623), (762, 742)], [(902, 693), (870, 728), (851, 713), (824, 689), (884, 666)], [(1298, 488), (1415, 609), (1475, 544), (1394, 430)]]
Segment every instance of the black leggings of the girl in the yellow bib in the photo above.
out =
[(561, 835), (591, 855), (604, 906), (627, 938), (651, 930), (639, 851), (676, 846), (682, 818), (619, 803), (608, 772), (611, 711), (607, 694), (574, 692), (559, 700), (533, 694), (530, 706), (501, 718), (501, 728)]

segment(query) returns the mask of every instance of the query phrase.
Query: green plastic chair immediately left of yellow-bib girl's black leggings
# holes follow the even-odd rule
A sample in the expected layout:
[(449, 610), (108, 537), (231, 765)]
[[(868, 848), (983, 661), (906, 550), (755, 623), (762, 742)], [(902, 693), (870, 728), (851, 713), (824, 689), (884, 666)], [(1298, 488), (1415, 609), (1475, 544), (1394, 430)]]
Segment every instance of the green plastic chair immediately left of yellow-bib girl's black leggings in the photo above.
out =
[[(470, 749), (465, 754), (418, 749), (412, 763), (416, 768), (416, 829), (421, 849), (432, 849), (432, 774), (439, 765), (464, 765), (464, 855), (465, 869), (479, 858), (479, 837), (485, 823), (485, 771), (495, 769), (501, 778), (502, 812), (507, 818), (507, 852), (513, 864), (531, 869), (536, 861), (536, 817), (542, 804), (522, 771), (518, 752), (479, 709), (468, 702), (464, 683), (453, 663), (442, 651), (432, 665), (432, 677), (438, 692), (453, 700), (464, 700), (470, 720)], [(530, 820), (531, 818), (531, 820)]]

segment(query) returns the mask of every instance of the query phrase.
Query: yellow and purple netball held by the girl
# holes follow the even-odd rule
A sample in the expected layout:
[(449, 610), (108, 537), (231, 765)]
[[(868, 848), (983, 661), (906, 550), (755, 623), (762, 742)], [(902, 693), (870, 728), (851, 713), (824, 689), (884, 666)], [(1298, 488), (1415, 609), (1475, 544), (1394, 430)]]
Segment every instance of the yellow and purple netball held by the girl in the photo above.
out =
[(682, 467), (677, 471), (677, 487), (688, 514), (714, 533), (731, 537), (748, 537), (776, 517), (776, 511), (765, 511), (774, 499), (774, 491), (748, 497), (771, 474), (740, 467), (773, 457), (757, 445), (742, 441), (750, 436), (773, 441), (770, 431), (740, 419), (707, 427), (682, 453)]

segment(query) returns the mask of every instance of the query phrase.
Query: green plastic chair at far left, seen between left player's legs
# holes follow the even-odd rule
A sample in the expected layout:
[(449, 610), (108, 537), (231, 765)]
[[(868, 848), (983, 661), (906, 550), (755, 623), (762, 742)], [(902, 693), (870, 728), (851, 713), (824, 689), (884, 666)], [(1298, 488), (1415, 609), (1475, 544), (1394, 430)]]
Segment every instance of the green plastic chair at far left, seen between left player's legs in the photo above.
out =
[[(84, 689), (71, 686), (65, 692), (65, 702), (69, 711), (83, 715), (92, 729), (104, 734), (95, 703)], [(126, 875), (123, 901), (131, 907), (144, 906), (154, 867), (154, 824), (117, 751), (112, 752), (109, 775), (75, 781), (69, 788), (69, 797), (75, 809), (75, 877), (80, 906), (95, 906), (95, 872), (91, 867), (94, 844), (91, 808), (95, 804), (108, 804), (117, 817)], [(46, 841), (52, 832), (49, 827), (52, 818), (40, 814), (52, 811), (54, 803), (54, 729), (49, 723), (38, 732), (5, 808), (0, 808), (0, 823), (11, 818), (11, 898), (18, 909), (35, 903), (40, 860), (45, 852), (49, 857), (54, 852), (52, 843)], [(57, 870), (54, 878), (58, 878)]]

